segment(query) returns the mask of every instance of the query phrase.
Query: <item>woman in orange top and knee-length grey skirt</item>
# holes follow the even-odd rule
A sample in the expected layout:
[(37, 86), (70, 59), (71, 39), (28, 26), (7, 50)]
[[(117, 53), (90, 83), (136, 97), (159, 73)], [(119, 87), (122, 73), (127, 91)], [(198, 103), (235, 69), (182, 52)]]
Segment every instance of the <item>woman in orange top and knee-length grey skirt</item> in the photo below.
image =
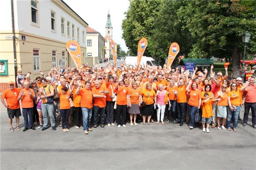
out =
[(141, 104), (141, 96), (139, 95), (139, 91), (141, 89), (137, 87), (136, 81), (132, 81), (132, 88), (129, 89), (128, 101), (129, 101), (129, 114), (130, 114), (130, 125), (133, 126), (132, 118), (134, 121), (134, 125), (137, 126), (136, 117), (140, 113), (139, 107)]

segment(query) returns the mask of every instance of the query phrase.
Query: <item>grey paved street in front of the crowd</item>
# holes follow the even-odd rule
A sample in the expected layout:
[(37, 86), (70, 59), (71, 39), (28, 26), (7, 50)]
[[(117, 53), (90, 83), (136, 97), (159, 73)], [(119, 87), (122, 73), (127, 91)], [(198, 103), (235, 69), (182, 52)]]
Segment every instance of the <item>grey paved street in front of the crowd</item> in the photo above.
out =
[(207, 134), (199, 128), (188, 130), (186, 125), (152, 123), (98, 128), (85, 135), (75, 127), (67, 133), (60, 127), (10, 133), (3, 105), (0, 118), (2, 170), (256, 167), (256, 130), (251, 125), (242, 127), (241, 122), (237, 132), (215, 128)]

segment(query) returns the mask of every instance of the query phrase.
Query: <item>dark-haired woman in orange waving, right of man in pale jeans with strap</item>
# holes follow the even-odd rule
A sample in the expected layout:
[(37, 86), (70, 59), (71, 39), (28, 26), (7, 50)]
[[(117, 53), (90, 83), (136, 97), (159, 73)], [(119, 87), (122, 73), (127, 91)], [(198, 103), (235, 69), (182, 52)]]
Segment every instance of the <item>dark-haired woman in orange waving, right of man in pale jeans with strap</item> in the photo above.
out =
[(62, 87), (61, 92), (57, 90), (58, 82), (55, 83), (56, 94), (60, 97), (60, 117), (61, 117), (61, 125), (62, 130), (64, 132), (68, 132), (68, 116), (70, 113), (70, 104), (69, 98), (70, 94), (68, 94), (68, 87)]

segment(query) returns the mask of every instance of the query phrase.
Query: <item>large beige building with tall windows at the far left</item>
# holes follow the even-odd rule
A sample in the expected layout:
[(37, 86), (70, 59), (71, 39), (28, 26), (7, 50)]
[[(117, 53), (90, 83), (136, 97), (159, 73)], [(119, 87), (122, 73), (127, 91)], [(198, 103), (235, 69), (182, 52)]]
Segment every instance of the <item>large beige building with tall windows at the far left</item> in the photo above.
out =
[(69, 40), (79, 42), (82, 63), (88, 62), (88, 24), (63, 0), (14, 0), (15, 63), (11, 3), (4, 0), (1, 5), (4, 24), (0, 25), (0, 92), (8, 87), (9, 81), (15, 81), (15, 66), (23, 74), (30, 71), (32, 79), (40, 76), (40, 70), (47, 73), (52, 67), (74, 67), (65, 48)]

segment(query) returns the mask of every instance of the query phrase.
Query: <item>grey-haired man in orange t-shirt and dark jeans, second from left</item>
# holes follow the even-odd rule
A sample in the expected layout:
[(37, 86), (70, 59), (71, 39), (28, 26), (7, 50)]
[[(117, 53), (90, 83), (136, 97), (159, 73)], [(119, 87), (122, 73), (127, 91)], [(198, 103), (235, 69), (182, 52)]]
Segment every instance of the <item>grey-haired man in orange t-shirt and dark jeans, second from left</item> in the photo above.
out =
[[(24, 117), (24, 129), (23, 132), (28, 130), (28, 128), (32, 130), (36, 130), (33, 126), (33, 108), (34, 108), (34, 100), (35, 93), (33, 89), (30, 89), (30, 83), (25, 81), (23, 83), (24, 89), (19, 92), (18, 100), (21, 100), (22, 113)], [(29, 116), (29, 119), (28, 119)]]

